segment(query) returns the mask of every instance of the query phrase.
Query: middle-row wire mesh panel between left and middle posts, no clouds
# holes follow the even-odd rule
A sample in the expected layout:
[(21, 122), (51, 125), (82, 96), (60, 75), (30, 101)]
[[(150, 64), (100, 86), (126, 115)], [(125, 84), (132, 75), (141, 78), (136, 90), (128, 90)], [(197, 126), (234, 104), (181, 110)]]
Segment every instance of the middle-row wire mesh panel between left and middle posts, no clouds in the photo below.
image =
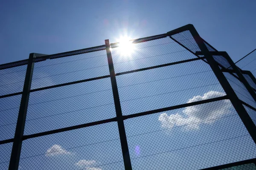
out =
[(115, 116), (110, 78), (35, 91), (30, 94), (24, 134)]

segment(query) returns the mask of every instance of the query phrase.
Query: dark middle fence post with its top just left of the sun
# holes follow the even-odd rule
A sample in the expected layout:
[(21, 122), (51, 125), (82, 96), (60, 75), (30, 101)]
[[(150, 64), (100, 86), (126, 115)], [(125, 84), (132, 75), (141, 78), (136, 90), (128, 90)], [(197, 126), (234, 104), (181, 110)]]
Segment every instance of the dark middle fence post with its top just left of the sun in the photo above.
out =
[(117, 118), (117, 124), (119, 129), (119, 136), (120, 136), (120, 142), (122, 147), (122, 155), (124, 159), (125, 170), (131, 170), (132, 169), (131, 159), (130, 159), (128, 143), (127, 143), (126, 134), (125, 134), (125, 125), (122, 119), (122, 110), (121, 110), (121, 104), (120, 104), (120, 99), (119, 99), (119, 94), (118, 94), (118, 89), (116, 84), (116, 74), (114, 70), (109, 40), (105, 40), (105, 45), (106, 45), (106, 51), (107, 51), (107, 57), (108, 57), (108, 67), (110, 72), (111, 85), (112, 85), (114, 103), (116, 108), (116, 118)]

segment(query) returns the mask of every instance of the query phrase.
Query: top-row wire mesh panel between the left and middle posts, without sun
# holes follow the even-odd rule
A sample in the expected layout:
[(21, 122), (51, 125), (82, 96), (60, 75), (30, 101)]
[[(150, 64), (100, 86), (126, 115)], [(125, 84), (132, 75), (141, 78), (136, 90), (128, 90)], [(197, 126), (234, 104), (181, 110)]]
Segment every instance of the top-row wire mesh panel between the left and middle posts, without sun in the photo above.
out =
[(106, 51), (36, 62), (31, 89), (74, 82), (109, 74)]

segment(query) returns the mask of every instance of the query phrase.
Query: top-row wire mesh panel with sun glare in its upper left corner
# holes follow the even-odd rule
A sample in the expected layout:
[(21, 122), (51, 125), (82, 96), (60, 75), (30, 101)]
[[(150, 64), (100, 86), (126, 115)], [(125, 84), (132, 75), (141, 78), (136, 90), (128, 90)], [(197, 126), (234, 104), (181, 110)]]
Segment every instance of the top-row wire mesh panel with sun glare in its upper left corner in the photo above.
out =
[(130, 46), (131, 52), (125, 52), (125, 54), (122, 44), (117, 48), (112, 48), (111, 53), (116, 73), (196, 58), (195, 55), (169, 37)]

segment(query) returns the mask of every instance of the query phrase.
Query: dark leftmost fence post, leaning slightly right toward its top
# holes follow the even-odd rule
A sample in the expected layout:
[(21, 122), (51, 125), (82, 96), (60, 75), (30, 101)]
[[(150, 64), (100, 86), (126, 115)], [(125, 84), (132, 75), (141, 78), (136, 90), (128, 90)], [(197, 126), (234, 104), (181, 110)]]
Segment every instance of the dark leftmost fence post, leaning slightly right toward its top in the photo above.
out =
[(26, 122), (26, 113), (29, 104), (29, 91), (32, 82), (32, 75), (34, 69), (33, 59), (35, 58), (35, 54), (29, 54), (29, 61), (26, 69), (26, 77), (23, 86), (23, 92), (20, 101), (20, 109), (17, 119), (17, 125), (15, 130), (14, 142), (12, 145), (12, 154), (9, 164), (9, 170), (18, 170), (19, 161), (20, 161), (20, 152), (22, 146), (22, 137), (24, 133), (24, 127)]

